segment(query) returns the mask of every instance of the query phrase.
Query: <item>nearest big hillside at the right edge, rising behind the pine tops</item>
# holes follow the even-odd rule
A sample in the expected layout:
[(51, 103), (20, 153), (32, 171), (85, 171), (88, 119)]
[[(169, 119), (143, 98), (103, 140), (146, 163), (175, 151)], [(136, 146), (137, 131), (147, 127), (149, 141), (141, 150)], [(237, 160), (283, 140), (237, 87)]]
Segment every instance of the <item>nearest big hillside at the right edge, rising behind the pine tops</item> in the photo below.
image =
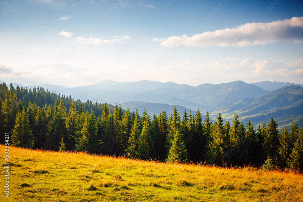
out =
[[(210, 113), (215, 116), (221, 112), (225, 118), (232, 119), (235, 111), (244, 122), (249, 119), (259, 124), (263, 119), (267, 122), (272, 116), (278, 123), (279, 129), (288, 127), (291, 120), (302, 126), (303, 87), (286, 86), (255, 98), (232, 102), (223, 108), (211, 110)], [(288, 120), (288, 124), (284, 119)]]

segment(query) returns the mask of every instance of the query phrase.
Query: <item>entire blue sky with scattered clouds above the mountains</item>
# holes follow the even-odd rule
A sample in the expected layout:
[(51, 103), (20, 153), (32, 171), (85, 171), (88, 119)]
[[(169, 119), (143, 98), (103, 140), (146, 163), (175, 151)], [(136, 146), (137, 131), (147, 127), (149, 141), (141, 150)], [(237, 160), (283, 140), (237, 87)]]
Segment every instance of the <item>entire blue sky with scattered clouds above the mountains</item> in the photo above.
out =
[(298, 83), (302, 1), (0, 0), (0, 79)]

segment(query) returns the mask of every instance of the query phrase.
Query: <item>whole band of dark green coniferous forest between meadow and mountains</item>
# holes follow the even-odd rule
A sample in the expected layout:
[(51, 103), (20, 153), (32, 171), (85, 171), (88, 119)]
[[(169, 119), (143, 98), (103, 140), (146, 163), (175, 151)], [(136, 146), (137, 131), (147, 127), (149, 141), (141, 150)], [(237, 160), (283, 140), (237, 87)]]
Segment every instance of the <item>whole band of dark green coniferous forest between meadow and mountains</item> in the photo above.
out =
[(199, 110), (138, 114), (119, 105), (82, 102), (43, 88), (14, 88), (0, 82), (1, 144), (52, 151), (86, 151), (142, 160), (207, 163), (218, 166), (303, 170), (303, 129), (291, 123), (281, 134), (273, 118), (216, 122)]

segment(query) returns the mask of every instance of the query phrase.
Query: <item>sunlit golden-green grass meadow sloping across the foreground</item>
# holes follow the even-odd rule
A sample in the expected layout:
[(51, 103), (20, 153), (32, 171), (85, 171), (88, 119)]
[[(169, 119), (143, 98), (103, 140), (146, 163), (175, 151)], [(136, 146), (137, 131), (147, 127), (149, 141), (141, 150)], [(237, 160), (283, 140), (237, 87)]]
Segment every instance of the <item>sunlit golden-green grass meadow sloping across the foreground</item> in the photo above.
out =
[(303, 201), (301, 174), (9, 147), (1, 201)]

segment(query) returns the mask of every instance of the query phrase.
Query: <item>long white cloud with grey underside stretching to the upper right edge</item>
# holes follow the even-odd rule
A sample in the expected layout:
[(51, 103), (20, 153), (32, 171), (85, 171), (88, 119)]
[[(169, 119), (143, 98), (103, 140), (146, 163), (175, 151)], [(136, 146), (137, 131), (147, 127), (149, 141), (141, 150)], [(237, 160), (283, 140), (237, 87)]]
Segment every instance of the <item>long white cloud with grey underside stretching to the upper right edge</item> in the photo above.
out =
[(157, 39), (161, 46), (172, 47), (183, 42), (185, 46), (253, 46), (264, 45), (285, 39), (293, 42), (300, 42), (303, 38), (303, 17), (293, 17), (291, 19), (278, 20), (269, 23), (246, 23), (237, 28), (226, 28), (216, 31), (206, 31), (201, 34), (188, 37), (171, 36), (168, 38)]

